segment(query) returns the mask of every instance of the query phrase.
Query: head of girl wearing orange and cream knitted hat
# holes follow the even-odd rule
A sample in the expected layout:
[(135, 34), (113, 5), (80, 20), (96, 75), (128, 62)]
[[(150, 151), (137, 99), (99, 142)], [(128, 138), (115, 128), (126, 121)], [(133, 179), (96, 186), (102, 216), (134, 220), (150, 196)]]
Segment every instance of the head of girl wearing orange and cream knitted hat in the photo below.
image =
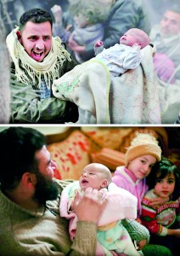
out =
[(125, 166), (137, 179), (147, 177), (156, 161), (161, 158), (161, 148), (149, 133), (138, 133), (125, 154)]

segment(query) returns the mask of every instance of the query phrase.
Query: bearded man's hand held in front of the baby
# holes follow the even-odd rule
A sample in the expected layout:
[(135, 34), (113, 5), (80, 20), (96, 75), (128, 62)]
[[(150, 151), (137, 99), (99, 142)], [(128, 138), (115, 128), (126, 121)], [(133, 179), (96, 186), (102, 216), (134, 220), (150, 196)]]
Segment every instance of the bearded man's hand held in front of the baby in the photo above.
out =
[(76, 193), (74, 211), (79, 221), (97, 224), (106, 204), (106, 191), (87, 188), (82, 197), (79, 192)]

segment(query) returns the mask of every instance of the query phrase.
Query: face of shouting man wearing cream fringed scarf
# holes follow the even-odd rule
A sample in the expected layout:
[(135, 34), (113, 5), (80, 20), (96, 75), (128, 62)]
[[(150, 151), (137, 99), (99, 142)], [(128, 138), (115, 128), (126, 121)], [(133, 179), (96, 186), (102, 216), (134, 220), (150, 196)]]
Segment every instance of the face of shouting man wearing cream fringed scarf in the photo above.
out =
[(35, 61), (41, 62), (48, 55), (52, 44), (52, 29), (49, 21), (33, 23), (28, 21), (20, 35), (20, 44)]

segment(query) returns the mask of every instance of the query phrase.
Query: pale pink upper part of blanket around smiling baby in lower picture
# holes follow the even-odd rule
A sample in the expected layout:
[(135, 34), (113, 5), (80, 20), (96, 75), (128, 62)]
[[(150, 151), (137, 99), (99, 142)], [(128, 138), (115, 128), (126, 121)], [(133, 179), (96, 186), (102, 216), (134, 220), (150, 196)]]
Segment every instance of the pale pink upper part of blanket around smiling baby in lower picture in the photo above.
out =
[[(60, 200), (60, 216), (75, 218), (75, 212), (68, 212), (68, 202), (74, 191), (80, 190), (79, 182), (70, 183), (62, 192)], [(108, 203), (104, 209), (98, 226), (111, 224), (122, 218), (137, 218), (137, 198), (125, 189), (118, 188), (115, 183), (110, 183), (108, 189)], [(76, 230), (76, 221), (71, 226)]]

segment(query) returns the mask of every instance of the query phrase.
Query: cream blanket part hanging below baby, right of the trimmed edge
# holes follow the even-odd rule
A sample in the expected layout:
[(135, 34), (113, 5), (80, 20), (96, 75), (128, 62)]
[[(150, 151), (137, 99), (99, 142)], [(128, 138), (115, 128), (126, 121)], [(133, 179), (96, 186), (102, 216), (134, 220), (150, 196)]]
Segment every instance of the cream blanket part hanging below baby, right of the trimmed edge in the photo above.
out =
[(155, 48), (141, 49), (142, 62), (111, 79), (110, 123), (160, 124), (158, 82), (153, 65)]

